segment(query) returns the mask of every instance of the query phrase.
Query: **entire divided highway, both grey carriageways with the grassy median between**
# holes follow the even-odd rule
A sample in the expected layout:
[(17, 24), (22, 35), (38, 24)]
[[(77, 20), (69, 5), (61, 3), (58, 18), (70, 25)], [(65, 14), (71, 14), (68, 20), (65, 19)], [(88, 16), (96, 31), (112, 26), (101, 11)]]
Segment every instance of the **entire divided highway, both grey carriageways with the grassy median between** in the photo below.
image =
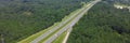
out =
[(44, 41), (44, 43), (51, 43), (53, 40), (55, 40), (65, 30), (67, 30), (68, 28), (72, 28), (83, 16), (83, 14), (91, 6), (93, 6), (96, 2), (99, 2), (99, 0), (89, 3), (86, 8), (82, 8), (81, 10), (79, 10), (80, 12), (77, 12), (76, 14), (74, 14), (73, 16), (70, 16), (68, 19), (66, 19), (65, 22), (60, 23), (60, 25), (57, 25), (56, 27), (50, 29), (49, 31), (44, 32), (43, 34), (39, 35), (35, 40), (32, 40), (30, 43), (38, 43), (42, 39), (44, 39), (48, 35), (50, 35), (52, 32), (54, 32), (55, 30), (60, 29), (56, 33), (54, 33), (48, 40)]

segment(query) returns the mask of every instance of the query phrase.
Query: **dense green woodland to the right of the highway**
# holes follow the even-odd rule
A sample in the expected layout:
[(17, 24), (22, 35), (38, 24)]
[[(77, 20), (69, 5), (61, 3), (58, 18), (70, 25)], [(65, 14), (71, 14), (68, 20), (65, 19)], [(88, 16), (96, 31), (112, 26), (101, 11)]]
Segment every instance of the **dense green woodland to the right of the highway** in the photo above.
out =
[(74, 26), (67, 43), (130, 43), (130, 12), (102, 1)]

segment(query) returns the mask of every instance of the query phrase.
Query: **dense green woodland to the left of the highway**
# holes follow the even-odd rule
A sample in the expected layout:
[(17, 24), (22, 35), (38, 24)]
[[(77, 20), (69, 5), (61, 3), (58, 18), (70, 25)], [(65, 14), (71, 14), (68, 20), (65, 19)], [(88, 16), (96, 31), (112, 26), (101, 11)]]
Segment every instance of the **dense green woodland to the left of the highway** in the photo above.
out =
[[(62, 20), (90, 0), (0, 0), (0, 39), (15, 43)], [(1, 42), (0, 42), (1, 43)]]

